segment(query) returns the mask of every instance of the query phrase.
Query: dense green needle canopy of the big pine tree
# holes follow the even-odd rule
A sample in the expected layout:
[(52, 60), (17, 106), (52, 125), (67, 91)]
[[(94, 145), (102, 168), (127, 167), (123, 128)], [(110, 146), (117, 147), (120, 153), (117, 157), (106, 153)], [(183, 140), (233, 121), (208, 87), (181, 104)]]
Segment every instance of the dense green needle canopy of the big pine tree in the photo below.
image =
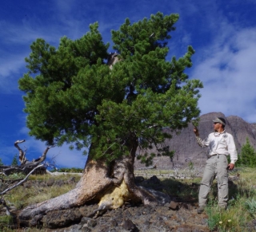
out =
[(111, 161), (129, 154), (131, 144), (161, 144), (170, 137), (162, 128), (186, 127), (200, 113), (202, 83), (184, 73), (192, 65), (191, 46), (183, 57), (167, 61), (177, 21), (178, 14), (162, 13), (135, 23), (127, 18), (111, 31), (118, 54), (112, 69), (98, 22), (78, 40), (62, 37), (58, 48), (42, 38), (34, 41), (28, 72), (18, 82), (30, 136), (77, 149), (94, 144), (90, 156)]

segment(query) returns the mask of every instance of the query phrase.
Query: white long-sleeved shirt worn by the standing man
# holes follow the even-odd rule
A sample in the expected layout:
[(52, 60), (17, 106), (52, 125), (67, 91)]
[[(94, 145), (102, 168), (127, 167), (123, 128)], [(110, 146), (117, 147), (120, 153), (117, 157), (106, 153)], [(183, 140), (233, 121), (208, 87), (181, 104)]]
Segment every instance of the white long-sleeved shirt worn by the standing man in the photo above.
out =
[(206, 138), (202, 140), (199, 136), (196, 136), (196, 140), (200, 147), (208, 147), (208, 155), (230, 155), (231, 163), (235, 163), (238, 160), (238, 152), (234, 144), (234, 138), (229, 133), (212, 132)]

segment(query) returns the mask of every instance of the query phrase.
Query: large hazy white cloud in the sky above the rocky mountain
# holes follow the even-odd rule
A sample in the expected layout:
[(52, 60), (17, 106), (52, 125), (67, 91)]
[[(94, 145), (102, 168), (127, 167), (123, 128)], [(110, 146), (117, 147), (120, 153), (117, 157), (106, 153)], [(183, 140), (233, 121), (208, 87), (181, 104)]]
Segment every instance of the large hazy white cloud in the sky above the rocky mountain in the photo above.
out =
[(199, 107), (202, 113), (223, 112), (255, 122), (256, 29), (230, 30), (222, 38), (202, 51), (205, 59), (194, 65), (192, 77), (204, 83)]

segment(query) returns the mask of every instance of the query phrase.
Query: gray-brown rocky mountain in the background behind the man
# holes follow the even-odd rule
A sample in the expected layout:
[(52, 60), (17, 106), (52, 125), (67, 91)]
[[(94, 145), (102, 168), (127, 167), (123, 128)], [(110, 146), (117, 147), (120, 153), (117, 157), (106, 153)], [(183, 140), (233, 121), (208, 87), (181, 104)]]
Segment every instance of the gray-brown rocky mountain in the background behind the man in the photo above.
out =
[[(222, 112), (210, 112), (200, 116), (198, 130), (202, 139), (205, 139), (213, 131), (213, 120), (215, 117), (225, 118), (226, 132), (234, 136), (238, 152), (241, 151), (242, 145), (246, 143), (246, 137), (249, 138), (250, 144), (256, 149), (256, 124), (249, 124), (238, 116), (226, 117)], [(204, 166), (207, 148), (198, 146), (193, 128), (194, 126), (189, 124), (187, 128), (182, 129), (179, 135), (166, 129), (173, 136), (171, 140), (166, 140), (166, 145), (170, 147), (170, 150), (175, 151), (174, 157), (172, 160), (169, 157), (156, 157), (154, 158), (154, 166), (159, 169), (170, 169), (173, 167), (187, 167), (190, 162), (195, 166)], [(145, 166), (135, 159), (134, 167), (140, 168)]]

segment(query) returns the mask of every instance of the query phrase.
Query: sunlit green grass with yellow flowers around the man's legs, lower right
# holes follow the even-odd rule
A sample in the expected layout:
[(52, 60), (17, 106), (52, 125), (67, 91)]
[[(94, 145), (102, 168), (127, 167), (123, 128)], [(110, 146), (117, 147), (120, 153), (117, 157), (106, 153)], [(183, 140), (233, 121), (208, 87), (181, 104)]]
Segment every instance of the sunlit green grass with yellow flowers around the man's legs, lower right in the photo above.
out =
[[(206, 207), (208, 214), (208, 224), (210, 230), (217, 231), (256, 231), (250, 227), (250, 222), (254, 220), (248, 201), (256, 199), (255, 183), (256, 171), (253, 168), (242, 168), (231, 175), (239, 175), (239, 179), (229, 184), (229, 205), (227, 210), (218, 208), (217, 183), (213, 184)], [(247, 202), (247, 203), (246, 203)], [(253, 205), (254, 206), (254, 205)]]

